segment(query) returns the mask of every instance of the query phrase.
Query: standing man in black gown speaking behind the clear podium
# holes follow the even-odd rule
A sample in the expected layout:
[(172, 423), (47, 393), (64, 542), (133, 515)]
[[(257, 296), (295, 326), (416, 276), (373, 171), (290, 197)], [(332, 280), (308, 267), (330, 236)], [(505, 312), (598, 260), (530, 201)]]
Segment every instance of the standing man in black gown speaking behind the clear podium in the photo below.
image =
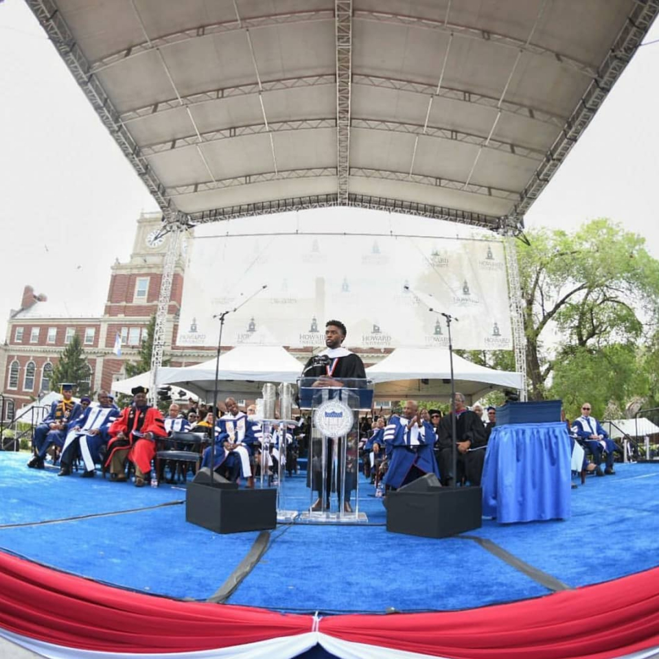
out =
[[(351, 378), (366, 378), (366, 371), (364, 363), (360, 356), (345, 349), (341, 344), (345, 340), (347, 330), (345, 325), (340, 321), (327, 321), (325, 323), (325, 345), (327, 348), (316, 355), (305, 364), (302, 371), (304, 378), (314, 378), (311, 386), (344, 386), (343, 380)], [(350, 383), (348, 383), (350, 384)], [(332, 491), (332, 441), (326, 442), (327, 446), (327, 470), (325, 473), (325, 501), (326, 509), (329, 510), (329, 494)], [(340, 447), (338, 447), (338, 454), (340, 455)], [(312, 458), (309, 456), (309, 463), (312, 464)], [(316, 463), (321, 463), (321, 456), (316, 456)], [(355, 465), (356, 467), (356, 465)], [(312, 470), (312, 487), (315, 487), (318, 492), (318, 500), (312, 505), (312, 510), (319, 511), (323, 508), (323, 478), (321, 471)], [(337, 472), (338, 483), (340, 483), (341, 474)], [(338, 492), (338, 483), (335, 487)], [(353, 489), (352, 479), (347, 476), (345, 483), (345, 502), (344, 509), (346, 512), (351, 511), (349, 503), (349, 492)]]

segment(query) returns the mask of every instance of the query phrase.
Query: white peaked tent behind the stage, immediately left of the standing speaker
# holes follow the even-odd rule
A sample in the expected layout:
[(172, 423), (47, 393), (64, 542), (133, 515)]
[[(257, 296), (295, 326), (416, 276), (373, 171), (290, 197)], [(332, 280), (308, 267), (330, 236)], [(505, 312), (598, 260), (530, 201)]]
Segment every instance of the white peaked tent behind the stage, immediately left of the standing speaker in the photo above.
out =
[[(158, 384), (172, 384), (212, 400), (216, 358), (179, 369), (162, 369)], [(281, 346), (240, 345), (220, 355), (219, 386), (222, 395), (259, 397), (264, 382), (296, 382), (303, 365)]]

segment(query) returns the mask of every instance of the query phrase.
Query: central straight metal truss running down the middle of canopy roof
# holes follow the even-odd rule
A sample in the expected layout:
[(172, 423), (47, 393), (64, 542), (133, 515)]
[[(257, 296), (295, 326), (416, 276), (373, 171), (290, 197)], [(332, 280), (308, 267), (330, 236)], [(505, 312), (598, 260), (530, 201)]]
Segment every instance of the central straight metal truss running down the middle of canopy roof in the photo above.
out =
[(336, 26), (336, 170), (338, 200), (347, 203), (350, 170), (352, 0), (334, 1)]

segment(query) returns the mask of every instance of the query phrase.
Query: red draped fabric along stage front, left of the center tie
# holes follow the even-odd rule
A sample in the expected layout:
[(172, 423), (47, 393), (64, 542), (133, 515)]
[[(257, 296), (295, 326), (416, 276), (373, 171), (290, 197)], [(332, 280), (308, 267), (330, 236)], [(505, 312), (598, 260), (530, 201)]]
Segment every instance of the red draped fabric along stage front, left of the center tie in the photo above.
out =
[(0, 553), (0, 627), (65, 647), (183, 652), (312, 630), (312, 616), (184, 602), (104, 586)]

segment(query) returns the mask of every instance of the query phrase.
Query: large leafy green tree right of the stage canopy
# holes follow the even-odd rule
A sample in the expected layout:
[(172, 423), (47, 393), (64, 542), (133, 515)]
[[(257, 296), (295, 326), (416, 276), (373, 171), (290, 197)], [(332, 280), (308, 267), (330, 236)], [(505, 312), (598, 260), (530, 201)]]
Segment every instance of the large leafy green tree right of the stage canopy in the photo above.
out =
[[(609, 220), (592, 220), (574, 233), (533, 231), (529, 239), (530, 245), (518, 244), (518, 259), (530, 397), (575, 392), (576, 401), (580, 370), (589, 391), (596, 386), (591, 378), (601, 379), (602, 404), (626, 395), (620, 380), (633, 374), (623, 365), (634, 364), (634, 347), (658, 318), (659, 262), (643, 238)], [(551, 329), (561, 337), (555, 346), (548, 345)]]

